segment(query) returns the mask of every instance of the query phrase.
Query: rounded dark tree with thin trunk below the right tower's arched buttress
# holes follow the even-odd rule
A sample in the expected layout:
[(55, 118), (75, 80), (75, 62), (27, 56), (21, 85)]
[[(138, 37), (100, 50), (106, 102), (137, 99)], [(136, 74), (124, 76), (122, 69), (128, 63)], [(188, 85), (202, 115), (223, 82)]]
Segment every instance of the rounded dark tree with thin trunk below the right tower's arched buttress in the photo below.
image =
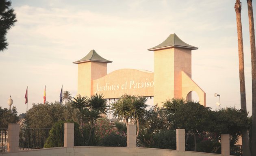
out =
[[(184, 100), (172, 99), (164, 103), (168, 119), (173, 123), (174, 129), (185, 129), (188, 132), (186, 142), (193, 134), (194, 151), (197, 150), (197, 136), (208, 130), (210, 124), (210, 108), (204, 107), (198, 102), (185, 102)], [(169, 113), (168, 113), (169, 112)]]

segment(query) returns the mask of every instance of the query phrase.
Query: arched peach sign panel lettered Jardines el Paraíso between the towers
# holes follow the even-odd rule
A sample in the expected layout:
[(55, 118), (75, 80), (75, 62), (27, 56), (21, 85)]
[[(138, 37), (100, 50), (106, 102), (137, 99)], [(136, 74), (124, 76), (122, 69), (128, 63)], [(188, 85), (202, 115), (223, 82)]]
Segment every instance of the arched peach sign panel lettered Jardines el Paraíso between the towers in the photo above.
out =
[(93, 94), (102, 93), (104, 98), (119, 98), (123, 94), (153, 96), (153, 72), (137, 69), (119, 69), (93, 80)]

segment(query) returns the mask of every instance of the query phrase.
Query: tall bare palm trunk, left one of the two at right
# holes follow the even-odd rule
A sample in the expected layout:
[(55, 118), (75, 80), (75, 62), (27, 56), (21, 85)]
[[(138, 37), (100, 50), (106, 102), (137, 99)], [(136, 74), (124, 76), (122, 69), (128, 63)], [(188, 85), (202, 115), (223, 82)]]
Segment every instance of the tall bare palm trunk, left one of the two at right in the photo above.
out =
[[(244, 59), (243, 59), (243, 33), (241, 22), (241, 2), (236, 0), (234, 9), (236, 11), (236, 26), (237, 26), (237, 38), (238, 38), (238, 56), (239, 56), (239, 80), (240, 80), (240, 100), (241, 109), (244, 113), (247, 113), (246, 109), (246, 94), (245, 94), (245, 73), (244, 73)], [(248, 130), (242, 130), (242, 145), (243, 154), (250, 156)]]

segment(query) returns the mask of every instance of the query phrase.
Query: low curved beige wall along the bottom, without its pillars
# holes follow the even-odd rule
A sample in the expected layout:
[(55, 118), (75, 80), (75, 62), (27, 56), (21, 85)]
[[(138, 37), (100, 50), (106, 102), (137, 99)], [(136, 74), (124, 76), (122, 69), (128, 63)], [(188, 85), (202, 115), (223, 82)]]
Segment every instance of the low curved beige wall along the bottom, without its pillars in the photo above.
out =
[(54, 147), (15, 153), (3, 152), (0, 156), (221, 156), (221, 154), (141, 147)]

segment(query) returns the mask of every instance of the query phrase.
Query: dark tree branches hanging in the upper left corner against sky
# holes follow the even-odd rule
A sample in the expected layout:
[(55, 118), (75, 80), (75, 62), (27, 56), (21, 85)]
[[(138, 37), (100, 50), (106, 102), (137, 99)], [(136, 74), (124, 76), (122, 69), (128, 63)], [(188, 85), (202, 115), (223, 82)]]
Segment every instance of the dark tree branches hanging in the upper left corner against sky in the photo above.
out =
[(7, 31), (17, 22), (14, 9), (11, 9), (11, 1), (0, 0), (0, 51), (8, 47), (6, 34)]

